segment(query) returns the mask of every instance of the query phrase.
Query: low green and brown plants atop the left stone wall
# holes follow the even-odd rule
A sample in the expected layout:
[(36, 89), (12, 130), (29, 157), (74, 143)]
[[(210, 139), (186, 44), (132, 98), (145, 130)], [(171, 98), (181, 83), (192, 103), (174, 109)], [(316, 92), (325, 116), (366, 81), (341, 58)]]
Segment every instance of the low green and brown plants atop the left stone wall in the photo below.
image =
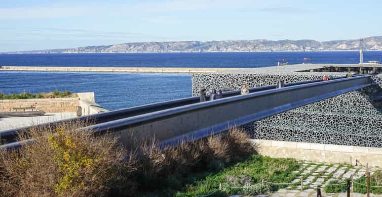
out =
[(51, 91), (49, 93), (28, 93), (22, 92), (18, 94), (3, 94), (0, 92), (0, 100), (12, 100), (12, 99), (30, 99), (30, 98), (63, 98), (63, 97), (78, 97), (77, 94), (70, 91)]

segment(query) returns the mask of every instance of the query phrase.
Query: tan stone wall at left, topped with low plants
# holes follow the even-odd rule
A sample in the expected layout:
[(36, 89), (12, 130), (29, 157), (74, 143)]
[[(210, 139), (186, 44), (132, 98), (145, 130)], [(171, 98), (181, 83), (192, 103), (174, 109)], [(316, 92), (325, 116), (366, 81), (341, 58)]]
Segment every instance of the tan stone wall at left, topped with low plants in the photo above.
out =
[(26, 107), (35, 107), (46, 113), (75, 112), (77, 106), (79, 106), (78, 97), (0, 100), (0, 112), (10, 112), (12, 108)]

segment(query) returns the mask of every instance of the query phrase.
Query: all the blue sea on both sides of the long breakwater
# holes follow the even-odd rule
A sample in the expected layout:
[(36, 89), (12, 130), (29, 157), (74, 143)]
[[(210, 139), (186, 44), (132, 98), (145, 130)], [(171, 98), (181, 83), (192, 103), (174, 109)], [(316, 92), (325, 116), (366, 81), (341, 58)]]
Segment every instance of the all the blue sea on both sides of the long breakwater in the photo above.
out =
[[(357, 64), (359, 52), (0, 54), (0, 66), (216, 67), (275, 66), (279, 59), (299, 64)], [(364, 52), (364, 61), (382, 62), (382, 52)], [(0, 92), (94, 91), (109, 110), (191, 96), (191, 76), (149, 73), (73, 73), (0, 71)]]

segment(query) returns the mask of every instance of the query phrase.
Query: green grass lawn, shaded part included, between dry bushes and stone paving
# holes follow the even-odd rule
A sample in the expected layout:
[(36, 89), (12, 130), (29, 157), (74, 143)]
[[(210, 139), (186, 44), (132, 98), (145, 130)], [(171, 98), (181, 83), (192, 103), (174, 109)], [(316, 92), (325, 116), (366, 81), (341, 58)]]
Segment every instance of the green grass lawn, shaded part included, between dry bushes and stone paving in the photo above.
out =
[[(299, 164), (294, 159), (270, 158), (261, 155), (252, 155), (236, 163), (226, 164), (221, 169), (205, 170), (190, 173), (185, 177), (170, 176), (161, 181), (164, 187), (153, 193), (142, 194), (146, 196), (196, 196), (213, 192), (221, 183), (224, 186), (243, 187), (268, 182), (291, 182), (296, 178), (295, 173)], [(223, 186), (223, 187), (224, 187)], [(283, 187), (283, 186), (281, 186)], [(212, 196), (226, 196), (227, 194), (258, 194), (276, 191), (279, 187), (269, 184), (257, 184), (247, 189), (224, 187)]]

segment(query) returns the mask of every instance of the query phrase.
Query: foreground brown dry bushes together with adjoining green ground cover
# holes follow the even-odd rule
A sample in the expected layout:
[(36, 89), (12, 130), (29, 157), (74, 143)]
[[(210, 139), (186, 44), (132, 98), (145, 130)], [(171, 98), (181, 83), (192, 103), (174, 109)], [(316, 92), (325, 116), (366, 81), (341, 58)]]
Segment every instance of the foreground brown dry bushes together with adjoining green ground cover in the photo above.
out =
[(200, 193), (215, 187), (219, 181), (209, 180), (222, 173), (225, 181), (231, 176), (238, 184), (250, 184), (293, 179), (289, 172), (297, 168), (293, 160), (275, 163), (256, 156), (256, 146), (239, 128), (174, 147), (130, 136), (127, 151), (109, 134), (78, 129), (89, 124), (69, 122), (20, 133), (19, 140), (35, 141), (17, 151), (0, 151), (0, 196), (187, 196), (196, 193), (193, 187)]

